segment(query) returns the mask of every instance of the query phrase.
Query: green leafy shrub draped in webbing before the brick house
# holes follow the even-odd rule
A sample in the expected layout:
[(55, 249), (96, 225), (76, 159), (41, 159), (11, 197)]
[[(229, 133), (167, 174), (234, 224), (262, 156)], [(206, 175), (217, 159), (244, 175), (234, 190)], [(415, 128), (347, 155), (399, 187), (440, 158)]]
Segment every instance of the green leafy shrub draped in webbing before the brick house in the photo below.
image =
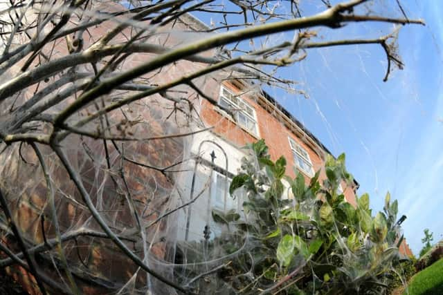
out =
[[(327, 158), (322, 184), (319, 171), (306, 184), (301, 173), (295, 179), (284, 176), (286, 160), (271, 161), (263, 140), (250, 147), (256, 160), (244, 159), (243, 171), (230, 186), (230, 193), (240, 187), (247, 191), (246, 217), (213, 215), (232, 231), (213, 241), (222, 253), (213, 247), (209, 256), (238, 251), (219, 278), (242, 292), (273, 286), (273, 292), (288, 294), (386, 292), (392, 263), (399, 257), (397, 201), (391, 203), (388, 193), (383, 212), (375, 216), (368, 194), (358, 198), (356, 208), (345, 202), (337, 193), (341, 182), (353, 181), (345, 155)], [(287, 193), (293, 198), (285, 198)], [(290, 283), (285, 281), (289, 274)], [(279, 284), (281, 280), (286, 283)]]

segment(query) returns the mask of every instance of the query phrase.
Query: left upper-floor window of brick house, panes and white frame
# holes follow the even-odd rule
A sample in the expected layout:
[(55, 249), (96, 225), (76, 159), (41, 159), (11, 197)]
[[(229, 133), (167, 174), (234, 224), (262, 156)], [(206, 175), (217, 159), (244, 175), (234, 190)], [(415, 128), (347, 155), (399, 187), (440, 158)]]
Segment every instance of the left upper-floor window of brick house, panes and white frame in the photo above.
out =
[(233, 95), (223, 86), (220, 88), (219, 105), (233, 109), (235, 121), (253, 135), (258, 135), (257, 117), (255, 110), (237, 95)]

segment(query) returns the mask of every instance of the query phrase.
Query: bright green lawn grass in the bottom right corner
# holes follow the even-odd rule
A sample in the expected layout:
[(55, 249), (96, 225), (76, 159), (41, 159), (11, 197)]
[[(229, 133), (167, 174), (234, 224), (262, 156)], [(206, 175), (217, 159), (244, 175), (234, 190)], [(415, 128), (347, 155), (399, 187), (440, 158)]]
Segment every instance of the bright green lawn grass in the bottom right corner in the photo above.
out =
[(443, 258), (426, 267), (410, 281), (403, 295), (443, 294)]

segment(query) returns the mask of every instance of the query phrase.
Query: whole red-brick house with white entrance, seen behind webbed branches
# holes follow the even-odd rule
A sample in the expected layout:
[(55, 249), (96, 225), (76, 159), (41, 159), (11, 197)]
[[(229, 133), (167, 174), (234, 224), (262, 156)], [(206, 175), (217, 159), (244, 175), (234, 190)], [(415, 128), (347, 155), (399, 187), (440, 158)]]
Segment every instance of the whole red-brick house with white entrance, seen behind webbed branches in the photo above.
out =
[[(174, 26), (191, 30), (196, 26), (204, 26), (189, 15), (183, 15), (181, 20), (182, 23), (178, 22)], [(165, 30), (168, 29), (165, 28)], [(108, 30), (107, 23), (93, 28), (91, 39), (87, 41), (93, 43), (96, 41), (94, 36), (102, 36), (106, 30)], [(179, 37), (156, 36), (153, 38), (155, 42), (166, 47), (183, 41)], [(116, 43), (120, 41), (125, 41), (125, 37), (114, 40)], [(66, 54), (64, 45), (63, 43), (57, 45), (60, 56)], [(44, 50), (51, 50), (51, 48), (44, 48)], [(125, 68), (136, 66), (152, 55), (154, 53), (131, 55), (125, 61)], [(211, 56), (211, 53), (204, 53), (204, 55)], [(150, 77), (152, 84), (160, 83), (192, 73), (196, 68), (204, 66), (206, 65), (195, 61), (180, 61), (165, 68), (154, 77), (146, 76)], [(84, 66), (82, 70), (92, 71), (90, 66)], [(136, 115), (131, 117), (130, 114), (134, 111), (136, 114), (143, 114), (143, 119), (149, 123), (143, 127), (136, 126), (134, 129), (128, 129), (128, 132), (143, 134), (147, 137), (180, 133), (188, 129), (196, 130), (201, 129), (202, 126), (213, 127), (210, 131), (195, 133), (187, 137), (150, 140), (125, 146), (125, 151), (131, 155), (131, 159), (141, 159), (152, 166), (171, 166), (186, 159), (177, 168), (181, 172), (174, 173), (173, 182), (159, 171), (144, 169), (133, 163), (127, 163), (122, 168), (127, 173), (128, 191), (131, 191), (132, 198), (137, 201), (136, 211), (143, 212), (143, 221), (147, 225), (152, 225), (151, 222), (159, 218), (162, 212), (192, 201), (188, 209), (177, 211), (156, 223), (155, 228), (149, 226), (146, 230), (147, 240), (150, 242), (150, 254), (146, 260), (154, 269), (161, 269), (163, 260), (177, 259), (174, 242), (202, 240), (205, 236), (206, 225), (210, 226), (210, 235), (216, 236), (219, 233), (221, 229), (214, 224), (210, 215), (212, 209), (222, 211), (241, 209), (241, 198), (235, 200), (230, 198), (227, 188), (229, 179), (239, 170), (242, 158), (248, 155), (248, 152), (242, 149), (245, 144), (263, 138), (269, 146), (272, 160), (284, 155), (289, 163), (287, 175), (294, 177), (295, 171), (300, 171), (305, 176), (306, 182), (309, 182), (314, 171), (324, 166), (326, 155), (329, 154), (327, 148), (275, 99), (242, 79), (227, 79), (229, 76), (228, 71), (222, 71), (210, 77), (197, 79), (195, 84), (206, 95), (216, 99), (217, 104), (203, 97), (195, 99), (201, 122), (193, 126), (188, 126), (189, 122), (183, 115), (179, 115), (172, 122), (169, 119), (168, 108), (174, 107), (174, 103), (164, 102), (161, 97), (150, 98), (149, 108), (142, 104), (134, 104), (127, 110), (125, 109), (128, 111), (129, 120), (139, 120)], [(42, 83), (42, 87), (46, 83), (51, 83), (51, 79)], [(195, 96), (195, 91), (188, 87), (183, 86), (180, 90)], [(33, 91), (34, 89), (30, 89), (24, 94), (23, 99), (28, 99), (26, 95), (32, 97)], [(176, 95), (176, 97), (179, 96)], [(217, 105), (227, 106), (237, 111), (233, 112), (232, 117)], [(130, 110), (130, 108), (134, 109)], [(114, 114), (114, 117), (111, 115), (109, 119), (118, 122), (123, 117)], [(87, 152), (79, 149), (80, 142), (87, 145), (85, 149)], [(93, 201), (100, 204), (102, 216), (113, 220), (112, 225), (115, 231), (129, 236), (129, 232), (136, 227), (136, 224), (131, 216), (132, 209), (124, 200), (124, 189), (121, 189), (124, 187), (123, 183), (114, 183), (115, 180), (102, 169), (106, 158), (109, 158), (111, 164), (115, 165), (115, 169), (118, 169), (120, 151), (109, 144), (107, 146), (109, 150), (106, 151), (109, 155), (105, 158), (105, 149), (102, 149), (102, 142), (98, 140), (80, 140), (79, 137), (69, 137), (65, 144), (66, 150), (69, 151), (69, 158), (80, 171), (87, 191), (93, 197)], [(51, 173), (53, 173), (53, 182), (56, 187), (55, 198), (57, 208), (59, 208), (58, 218), (62, 231), (83, 230), (83, 222), (88, 225), (88, 229), (99, 229), (93, 220), (89, 221), (89, 211), (84, 209), (78, 191), (71, 182), (66, 181), (69, 180), (69, 175), (57, 161), (51, 162), (54, 157), (50, 150), (43, 149), (43, 151), (48, 162), (51, 163)], [(37, 162), (32, 150), (25, 147), (20, 155), (19, 153), (16, 146), (16, 149), (8, 156), (12, 159), (19, 159), (24, 155), (30, 162)], [(215, 158), (211, 157), (211, 154), (215, 155)], [(5, 159), (6, 156), (0, 158), (0, 160)], [(37, 166), (30, 167), (17, 160), (8, 162), (8, 165), (5, 164), (1, 168), (0, 176), (5, 180), (1, 183), (1, 187), (10, 196), (10, 204), (14, 205), (15, 219), (21, 230), (27, 234), (26, 238), (30, 244), (41, 245), (46, 242), (45, 232), (46, 236), (53, 238), (54, 228), (51, 225), (51, 218), (46, 217), (43, 221), (40, 219), (42, 215), (50, 216), (49, 209), (46, 207), (46, 189), (48, 188), (43, 181), (42, 171)], [(24, 188), (17, 186), (17, 183), (21, 183), (21, 179), (29, 180)], [(325, 171), (321, 171), (320, 182), (324, 179)], [(115, 189), (115, 186), (119, 189)], [(345, 183), (341, 184), (345, 199), (353, 205), (356, 204), (358, 186), (357, 182), (350, 186)], [(198, 200), (194, 200), (197, 196)], [(79, 226), (80, 224), (82, 226)], [(11, 242), (8, 238), (4, 238), (3, 241)], [(131, 245), (132, 251), (137, 253), (140, 253), (145, 246), (142, 245), (141, 240), (127, 240), (127, 243)], [(109, 240), (80, 236), (75, 239), (75, 243), (66, 244), (65, 250), (72, 266), (71, 272), (78, 279), (78, 285), (84, 294), (103, 294), (108, 289), (123, 288), (138, 272), (137, 267), (126, 256), (120, 254)], [(406, 244), (404, 247), (407, 254), (408, 247)], [(19, 251), (17, 247), (15, 249)], [(57, 274), (53, 271), (51, 261), (45, 256), (40, 258), (42, 267), (48, 269), (48, 274), (55, 278)], [(84, 269), (85, 265), (87, 270)], [(19, 278), (24, 272), (23, 269), (18, 267), (17, 269), (10, 272)], [(170, 275), (168, 270), (165, 270), (163, 274)], [(25, 284), (32, 285), (30, 283), (33, 281), (32, 277), (21, 276), (21, 278)], [(149, 280), (146, 276), (136, 276), (134, 285), (145, 285), (146, 280)], [(159, 288), (162, 287), (164, 286)], [(37, 293), (32, 290), (33, 287), (30, 287), (31, 293)], [(155, 292), (155, 286), (153, 290)], [(160, 294), (161, 291), (165, 290), (160, 289), (156, 292)]]

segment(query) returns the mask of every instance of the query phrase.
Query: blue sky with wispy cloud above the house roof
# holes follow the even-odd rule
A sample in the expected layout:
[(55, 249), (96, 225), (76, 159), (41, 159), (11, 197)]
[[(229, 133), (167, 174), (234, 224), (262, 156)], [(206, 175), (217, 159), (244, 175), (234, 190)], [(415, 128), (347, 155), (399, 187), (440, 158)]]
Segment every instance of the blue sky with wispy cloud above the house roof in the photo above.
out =
[[(395, 2), (377, 0), (371, 8), (399, 17)], [(395, 70), (388, 82), (383, 82), (386, 57), (380, 46), (347, 46), (309, 50), (307, 59), (279, 70), (281, 77), (300, 82), (308, 99), (278, 88), (266, 91), (334, 155), (346, 153), (347, 168), (361, 184), (359, 194), (370, 194), (372, 209), (382, 209), (387, 191), (399, 200), (399, 216), (408, 217), (404, 234), (418, 254), (425, 228), (433, 231), (434, 242), (443, 238), (443, 3), (401, 3), (408, 17), (424, 19), (426, 26), (400, 29), (399, 53), (406, 68)], [(304, 12), (319, 9), (311, 5)], [(392, 30), (392, 24), (359, 23), (341, 30), (320, 28), (317, 34), (345, 39)], [(292, 39), (287, 33), (272, 38)]]

